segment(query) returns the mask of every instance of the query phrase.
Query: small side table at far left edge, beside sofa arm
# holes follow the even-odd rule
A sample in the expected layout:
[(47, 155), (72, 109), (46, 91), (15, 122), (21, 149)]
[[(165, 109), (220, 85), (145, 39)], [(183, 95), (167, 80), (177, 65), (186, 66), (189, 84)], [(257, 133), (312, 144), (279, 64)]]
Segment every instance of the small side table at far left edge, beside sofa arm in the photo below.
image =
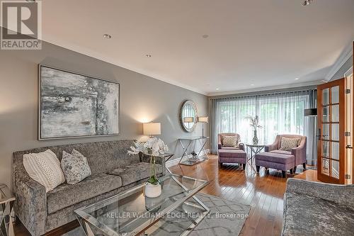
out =
[(16, 198), (5, 184), (0, 184), (0, 235), (13, 236), (12, 208)]

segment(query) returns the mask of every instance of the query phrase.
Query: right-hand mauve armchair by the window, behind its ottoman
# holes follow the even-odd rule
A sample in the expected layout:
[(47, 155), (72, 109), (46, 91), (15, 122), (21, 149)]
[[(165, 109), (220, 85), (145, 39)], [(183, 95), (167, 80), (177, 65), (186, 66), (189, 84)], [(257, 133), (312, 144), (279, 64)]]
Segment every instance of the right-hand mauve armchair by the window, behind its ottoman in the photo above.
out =
[[(279, 150), (282, 137), (287, 138), (300, 138), (299, 145), (295, 148), (292, 148), (291, 152)], [(275, 137), (275, 141), (271, 145), (265, 145), (265, 152), (273, 152), (279, 154), (292, 154), (295, 157), (295, 167), (294, 172), (296, 171), (296, 167), (299, 164), (302, 164), (304, 169), (306, 169), (306, 148), (307, 148), (307, 137), (302, 135), (277, 135)]]

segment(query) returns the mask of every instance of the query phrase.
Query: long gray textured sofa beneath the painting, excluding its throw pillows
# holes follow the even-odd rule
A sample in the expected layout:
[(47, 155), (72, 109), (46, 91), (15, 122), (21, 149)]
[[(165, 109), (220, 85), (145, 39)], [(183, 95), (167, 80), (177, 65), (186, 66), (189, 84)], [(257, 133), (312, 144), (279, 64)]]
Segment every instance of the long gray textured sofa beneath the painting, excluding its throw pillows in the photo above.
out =
[[(14, 210), (32, 235), (45, 232), (76, 220), (74, 210), (130, 189), (149, 178), (149, 157), (128, 155), (134, 140), (89, 142), (54, 147), (40, 147), (13, 153)], [(52, 150), (62, 159), (62, 151), (78, 150), (87, 157), (92, 175), (78, 184), (61, 184), (45, 193), (45, 187), (30, 179), (23, 167), (23, 154)], [(165, 174), (163, 158), (157, 159), (156, 171)]]

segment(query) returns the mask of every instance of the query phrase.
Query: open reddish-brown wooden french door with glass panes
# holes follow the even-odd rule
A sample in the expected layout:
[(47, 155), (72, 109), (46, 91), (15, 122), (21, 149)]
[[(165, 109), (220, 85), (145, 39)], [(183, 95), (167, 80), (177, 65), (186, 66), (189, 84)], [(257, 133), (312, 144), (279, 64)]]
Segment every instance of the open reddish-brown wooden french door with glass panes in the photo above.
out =
[(345, 79), (317, 86), (317, 178), (344, 184), (346, 174)]

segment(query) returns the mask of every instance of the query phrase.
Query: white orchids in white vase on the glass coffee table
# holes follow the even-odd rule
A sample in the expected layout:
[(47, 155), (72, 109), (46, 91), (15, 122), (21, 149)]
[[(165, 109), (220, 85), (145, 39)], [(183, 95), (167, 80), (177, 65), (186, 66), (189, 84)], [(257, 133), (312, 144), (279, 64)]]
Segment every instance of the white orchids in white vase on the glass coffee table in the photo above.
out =
[(161, 195), (161, 184), (156, 176), (156, 157), (169, 151), (164, 141), (157, 137), (149, 137), (147, 142), (135, 142), (135, 147), (130, 147), (128, 154), (147, 154), (150, 156), (150, 177), (145, 184), (144, 193), (148, 198), (156, 198)]

